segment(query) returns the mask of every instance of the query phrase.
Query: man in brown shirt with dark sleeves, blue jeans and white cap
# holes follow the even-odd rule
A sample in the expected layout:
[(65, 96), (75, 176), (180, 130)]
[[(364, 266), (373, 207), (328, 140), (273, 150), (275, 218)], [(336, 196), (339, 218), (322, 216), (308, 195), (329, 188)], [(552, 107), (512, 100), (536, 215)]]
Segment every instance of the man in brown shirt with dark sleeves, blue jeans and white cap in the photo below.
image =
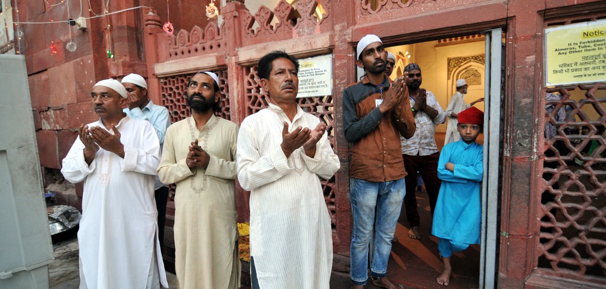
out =
[(415, 120), (404, 79), (390, 84), (385, 76), (387, 51), (381, 39), (364, 36), (358, 42), (357, 55), (356, 65), (364, 68), (366, 75), (343, 91), (345, 138), (352, 143), (351, 282), (354, 288), (362, 288), (368, 280), (368, 244), (374, 226), (370, 264), (373, 284), (396, 288), (385, 276), (408, 170), (404, 170), (400, 138), (414, 135)]

